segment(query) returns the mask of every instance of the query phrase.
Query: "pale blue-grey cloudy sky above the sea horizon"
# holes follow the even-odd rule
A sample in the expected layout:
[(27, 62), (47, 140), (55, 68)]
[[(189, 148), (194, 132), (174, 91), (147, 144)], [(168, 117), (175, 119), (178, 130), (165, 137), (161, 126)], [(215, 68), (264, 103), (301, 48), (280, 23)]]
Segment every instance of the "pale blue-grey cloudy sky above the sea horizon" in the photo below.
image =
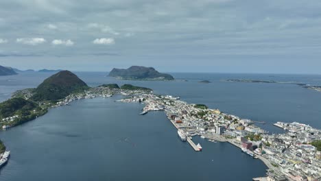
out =
[(320, 0), (3, 0), (0, 65), (321, 74)]

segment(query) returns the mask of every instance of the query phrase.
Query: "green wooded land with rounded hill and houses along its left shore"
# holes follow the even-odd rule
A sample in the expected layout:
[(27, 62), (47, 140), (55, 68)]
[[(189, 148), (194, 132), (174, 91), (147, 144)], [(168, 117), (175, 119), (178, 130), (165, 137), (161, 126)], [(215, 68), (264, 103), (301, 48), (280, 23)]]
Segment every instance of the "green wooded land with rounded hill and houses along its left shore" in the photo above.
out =
[(69, 104), (75, 99), (111, 97), (114, 94), (150, 93), (152, 89), (124, 84), (89, 87), (71, 71), (51, 75), (37, 88), (16, 91), (11, 99), (0, 103), (0, 125), (3, 130), (46, 114), (49, 108)]

